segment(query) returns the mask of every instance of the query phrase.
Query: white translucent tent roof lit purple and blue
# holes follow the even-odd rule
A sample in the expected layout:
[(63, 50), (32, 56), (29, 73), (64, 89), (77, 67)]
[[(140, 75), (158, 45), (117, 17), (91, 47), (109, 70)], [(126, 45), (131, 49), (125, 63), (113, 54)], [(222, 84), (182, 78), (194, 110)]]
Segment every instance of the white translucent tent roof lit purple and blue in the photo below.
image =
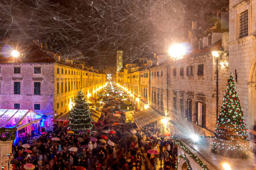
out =
[(0, 109), (0, 127), (14, 128), (18, 130), (32, 123), (38, 122), (43, 117), (32, 110)]

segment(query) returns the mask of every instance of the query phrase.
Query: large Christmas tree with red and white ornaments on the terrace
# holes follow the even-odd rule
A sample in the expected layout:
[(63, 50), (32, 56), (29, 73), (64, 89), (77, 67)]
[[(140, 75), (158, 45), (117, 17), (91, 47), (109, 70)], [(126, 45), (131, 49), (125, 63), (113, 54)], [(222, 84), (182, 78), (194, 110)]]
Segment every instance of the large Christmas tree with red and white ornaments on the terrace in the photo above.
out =
[(220, 107), (212, 141), (212, 152), (236, 158), (246, 158), (251, 148), (245, 120), (232, 73)]

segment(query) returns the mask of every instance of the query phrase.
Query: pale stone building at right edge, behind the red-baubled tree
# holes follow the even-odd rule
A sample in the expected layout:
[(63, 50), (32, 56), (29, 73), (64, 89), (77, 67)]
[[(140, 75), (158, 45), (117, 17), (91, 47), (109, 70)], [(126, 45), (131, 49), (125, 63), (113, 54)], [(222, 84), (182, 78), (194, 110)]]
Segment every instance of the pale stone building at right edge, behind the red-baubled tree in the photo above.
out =
[[(229, 1), (229, 72), (234, 75), (245, 127), (249, 130), (256, 125), (255, 9), (255, 0)], [(254, 138), (252, 133), (249, 136)]]

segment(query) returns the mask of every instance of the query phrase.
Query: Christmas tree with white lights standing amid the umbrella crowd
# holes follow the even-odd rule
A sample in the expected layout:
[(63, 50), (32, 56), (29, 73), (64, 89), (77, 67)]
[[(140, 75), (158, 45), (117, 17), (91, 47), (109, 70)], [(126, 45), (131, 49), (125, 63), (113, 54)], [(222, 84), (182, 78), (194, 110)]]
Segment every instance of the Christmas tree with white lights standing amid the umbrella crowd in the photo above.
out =
[(69, 129), (74, 132), (86, 131), (92, 128), (91, 112), (89, 111), (88, 103), (84, 97), (83, 91), (78, 91), (75, 97), (75, 105), (69, 115)]

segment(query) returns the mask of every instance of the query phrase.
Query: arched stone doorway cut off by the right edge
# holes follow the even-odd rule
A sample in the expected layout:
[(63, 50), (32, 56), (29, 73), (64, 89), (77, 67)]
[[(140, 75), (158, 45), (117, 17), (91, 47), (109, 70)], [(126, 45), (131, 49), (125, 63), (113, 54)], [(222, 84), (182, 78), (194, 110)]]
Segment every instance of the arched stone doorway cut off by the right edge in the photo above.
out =
[[(248, 129), (255, 130), (256, 126), (256, 58), (252, 64), (249, 73), (249, 83), (248, 83)], [(253, 133), (249, 133), (250, 139), (254, 139)], [(256, 151), (256, 146), (253, 146), (253, 150)]]

